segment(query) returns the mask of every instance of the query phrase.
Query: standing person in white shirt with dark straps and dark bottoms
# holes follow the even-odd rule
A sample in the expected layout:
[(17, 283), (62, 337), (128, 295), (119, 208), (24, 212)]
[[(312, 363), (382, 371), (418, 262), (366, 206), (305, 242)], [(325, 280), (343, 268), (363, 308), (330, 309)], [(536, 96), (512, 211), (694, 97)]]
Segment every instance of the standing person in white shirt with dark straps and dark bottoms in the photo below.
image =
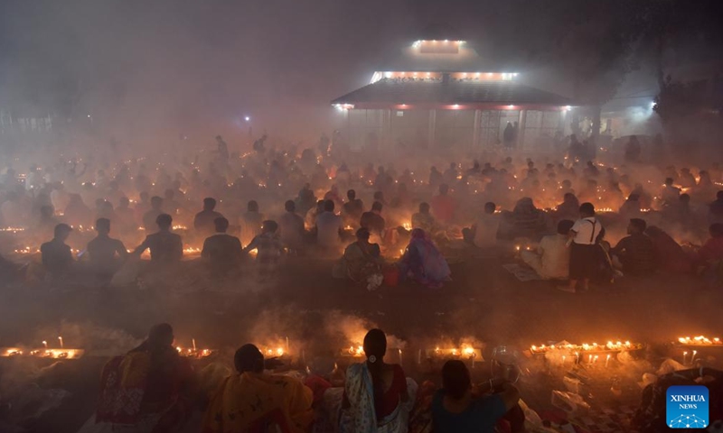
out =
[(568, 293), (577, 292), (577, 281), (582, 281), (582, 290), (589, 289), (590, 278), (597, 272), (599, 241), (605, 235), (600, 221), (595, 217), (592, 203), (580, 205), (580, 219), (570, 229), (570, 267), (569, 284), (558, 287)]

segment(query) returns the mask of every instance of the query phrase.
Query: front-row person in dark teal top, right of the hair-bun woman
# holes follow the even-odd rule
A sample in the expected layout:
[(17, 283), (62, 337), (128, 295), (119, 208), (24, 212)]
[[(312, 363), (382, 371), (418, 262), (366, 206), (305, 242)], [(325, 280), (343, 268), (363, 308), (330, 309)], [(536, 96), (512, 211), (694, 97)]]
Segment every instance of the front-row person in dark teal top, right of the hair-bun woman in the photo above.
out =
[(495, 378), (473, 388), (467, 366), (455, 359), (442, 366), (442, 386), (432, 400), (436, 433), (493, 433), (503, 418), (510, 420), (513, 433), (525, 431), (520, 392), (512, 383)]

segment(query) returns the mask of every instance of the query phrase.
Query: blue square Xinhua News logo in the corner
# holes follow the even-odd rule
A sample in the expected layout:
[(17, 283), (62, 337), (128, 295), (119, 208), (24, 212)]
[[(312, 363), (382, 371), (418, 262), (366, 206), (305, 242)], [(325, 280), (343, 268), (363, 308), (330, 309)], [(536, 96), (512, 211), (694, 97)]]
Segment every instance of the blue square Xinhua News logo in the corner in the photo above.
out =
[(665, 416), (670, 428), (708, 427), (708, 388), (670, 386), (666, 395)]

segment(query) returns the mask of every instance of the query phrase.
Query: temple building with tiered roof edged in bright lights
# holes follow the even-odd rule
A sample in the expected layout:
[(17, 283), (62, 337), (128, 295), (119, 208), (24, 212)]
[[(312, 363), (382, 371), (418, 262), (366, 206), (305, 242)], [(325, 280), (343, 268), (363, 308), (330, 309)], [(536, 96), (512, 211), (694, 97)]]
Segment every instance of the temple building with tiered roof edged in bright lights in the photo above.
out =
[(352, 149), (551, 145), (572, 102), (519, 78), (485, 65), (465, 41), (415, 41), (374, 72), (369, 85), (332, 105), (344, 116), (341, 132)]

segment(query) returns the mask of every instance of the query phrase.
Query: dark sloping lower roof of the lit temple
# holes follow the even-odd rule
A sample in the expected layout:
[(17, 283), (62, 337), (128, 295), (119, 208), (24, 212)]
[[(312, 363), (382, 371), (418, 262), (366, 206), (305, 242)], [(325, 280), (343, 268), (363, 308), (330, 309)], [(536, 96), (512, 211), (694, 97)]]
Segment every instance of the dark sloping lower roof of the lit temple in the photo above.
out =
[(514, 81), (401, 80), (383, 78), (332, 104), (531, 104), (568, 106), (570, 99)]

